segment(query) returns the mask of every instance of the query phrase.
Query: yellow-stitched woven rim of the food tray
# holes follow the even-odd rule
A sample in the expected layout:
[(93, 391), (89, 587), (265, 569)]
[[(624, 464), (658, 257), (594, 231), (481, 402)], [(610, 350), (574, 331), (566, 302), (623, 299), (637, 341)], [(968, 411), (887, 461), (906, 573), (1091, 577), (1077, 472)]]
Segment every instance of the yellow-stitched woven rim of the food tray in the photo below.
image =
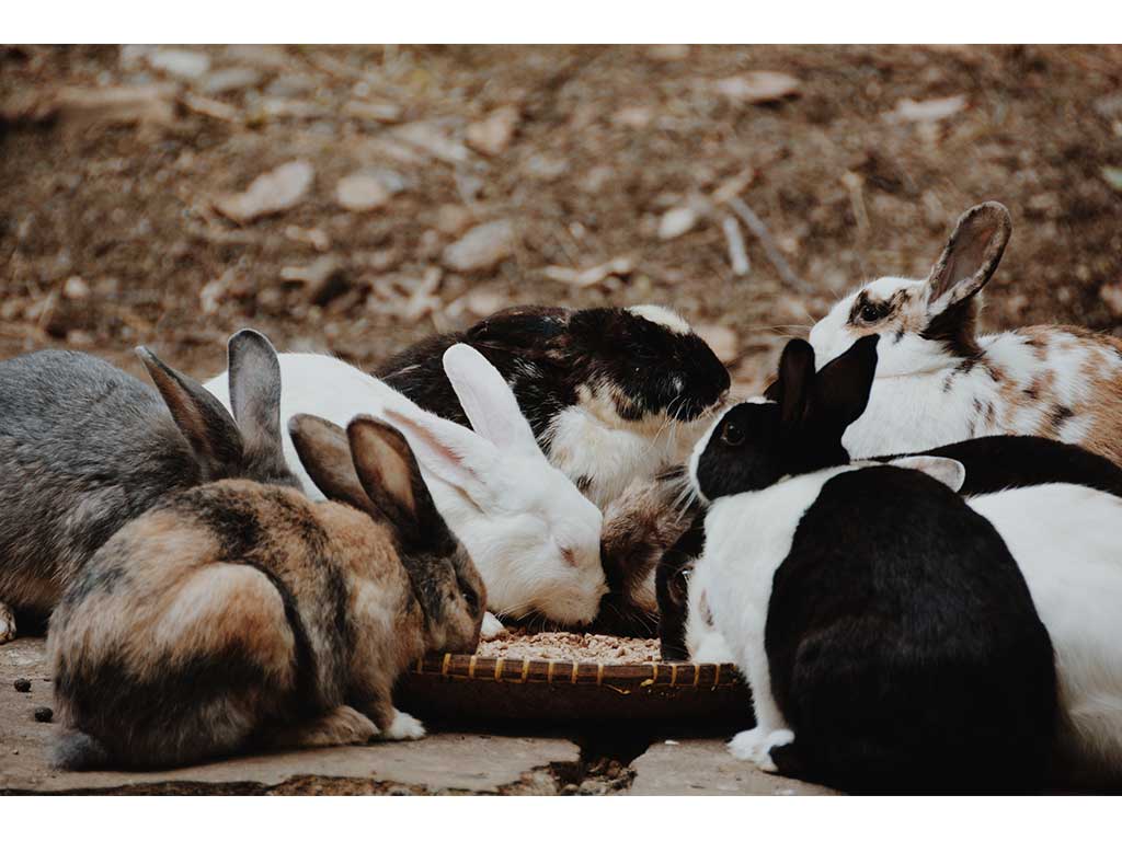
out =
[(473, 654), (431, 654), (414, 664), (413, 674), (493, 683), (608, 686), (623, 692), (654, 686), (715, 690), (743, 685), (732, 663), (597, 663)]

